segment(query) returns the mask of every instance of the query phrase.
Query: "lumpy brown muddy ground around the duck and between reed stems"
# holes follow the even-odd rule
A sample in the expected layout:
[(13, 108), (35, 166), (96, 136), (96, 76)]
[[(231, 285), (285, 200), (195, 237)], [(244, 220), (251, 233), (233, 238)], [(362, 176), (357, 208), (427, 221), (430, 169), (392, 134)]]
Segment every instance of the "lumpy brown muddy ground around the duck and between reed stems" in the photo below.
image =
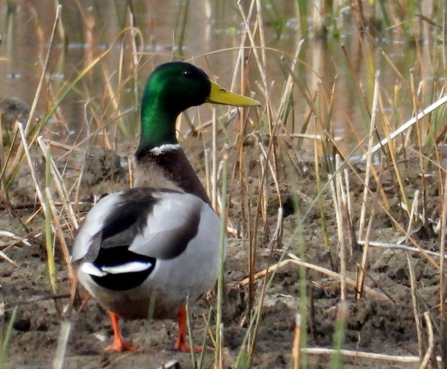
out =
[[(247, 150), (250, 145), (248, 144)], [(203, 152), (195, 152), (200, 148), (187, 148), (189, 156), (200, 158)], [(203, 149), (202, 149), (203, 150)], [(120, 154), (122, 159), (124, 154)], [(254, 158), (258, 157), (256, 155)], [(254, 161), (255, 159), (252, 159)], [(120, 160), (114, 154), (105, 151), (96, 151), (91, 157), (90, 167), (84, 176), (81, 193), (83, 200), (91, 200), (92, 195), (103, 194), (111, 190), (126, 186), (127, 169), (121, 165), (126, 160)], [(112, 164), (110, 164), (112, 163)], [(121, 163), (121, 164), (120, 164)], [(248, 161), (248, 164), (251, 162)], [(64, 163), (65, 164), (65, 163)], [(72, 163), (73, 164), (73, 163)], [(256, 163), (253, 168), (256, 168)], [(406, 185), (410, 197), (414, 190), (421, 188), (418, 161), (408, 159), (400, 164), (406, 176)], [(62, 166), (62, 163), (61, 163)], [(250, 165), (248, 165), (250, 168)], [(282, 201), (284, 202), (285, 217), (283, 222), (283, 242), (287, 245), (296, 230), (297, 217), (304, 214), (310, 201), (316, 195), (315, 173), (312, 163), (307, 164), (305, 175), (287, 175), (280, 179)], [(68, 167), (73, 173), (75, 165)], [(203, 173), (203, 172), (201, 172)], [(253, 186), (250, 203), (255, 208), (257, 201), (257, 171), (253, 169)], [(364, 176), (362, 166), (359, 166), (360, 176)], [(69, 173), (70, 174), (70, 173)], [(69, 176), (69, 174), (67, 176)], [(428, 203), (429, 215), (439, 218), (439, 199), (437, 172), (428, 173), (427, 188), (431, 200)], [(203, 175), (201, 175), (203, 178)], [(398, 209), (398, 188), (391, 182), (393, 174), (384, 170), (382, 182), (386, 187), (386, 195), (391, 204), (391, 211), (402, 224), (405, 224), (402, 212)], [(323, 178), (327, 178), (323, 173)], [(372, 184), (375, 190), (375, 184)], [(278, 197), (275, 186), (268, 180), (268, 222), (270, 232), (273, 233), (277, 222)], [(351, 172), (351, 196), (353, 206), (353, 222), (358, 229), (360, 206), (363, 186), (359, 179)], [(233, 184), (231, 189), (230, 219), (234, 227), (244, 228), (242, 209), (240, 204), (240, 185)], [(29, 204), (35, 201), (34, 191), (26, 179), (26, 170), (23, 170), (21, 180), (10, 191), (11, 203), (17, 207), (16, 217), (27, 219), (34, 211), (33, 208), (19, 209), (20, 204)], [(292, 197), (298, 198), (298, 211), (294, 210)], [(326, 221), (329, 230), (331, 255), (338, 264), (337, 229), (332, 200), (329, 190), (323, 195), (326, 209)], [(372, 201), (370, 199), (370, 201)], [(91, 205), (84, 205), (88, 210)], [(6, 210), (0, 213), (0, 226), (18, 234), (24, 234), (20, 227)], [(401, 217), (401, 219), (399, 218)], [(368, 219), (368, 218), (367, 218)], [(33, 234), (38, 233), (37, 226), (28, 224)], [(430, 230), (429, 230), (430, 231)], [(269, 262), (270, 250), (266, 249), (268, 240), (265, 237), (264, 227), (259, 228), (259, 247), (257, 250), (256, 269), (264, 269)], [(245, 236), (239, 239), (229, 238), (228, 255), (226, 259), (226, 291), (224, 307), (224, 368), (232, 368), (239, 353), (242, 340), (247, 330), (248, 314), (248, 287), (238, 287), (238, 283), (247, 276), (248, 242)], [(314, 207), (309, 215), (302, 220), (302, 230), (298, 232), (304, 245), (305, 260), (324, 268), (331, 269), (328, 261), (326, 246), (323, 242), (320, 212)], [(374, 218), (371, 239), (383, 242), (392, 242), (398, 238), (397, 232), (391, 227), (389, 218), (380, 209), (377, 209)], [(431, 232), (420, 231), (414, 235), (417, 242), (426, 249), (438, 250), (439, 236)], [(70, 243), (70, 235), (67, 234)], [(9, 241), (4, 239), (4, 241)], [(53, 301), (30, 302), (31, 299), (45, 296), (50, 293), (48, 272), (46, 266), (46, 251), (43, 248), (43, 236), (37, 235), (30, 241), (30, 246), (17, 244), (15, 246), (1, 246), (3, 250), (17, 265), (0, 259), (0, 301), (5, 304), (4, 320), (11, 315), (12, 308), (18, 306), (10, 343), (7, 348), (6, 368), (51, 368), (57, 353), (58, 339), (61, 334), (62, 318), (56, 311)], [(299, 237), (292, 241), (290, 251), (298, 253)], [(59, 250), (59, 248), (58, 248)], [(280, 258), (280, 252), (273, 253), (272, 263)], [(348, 277), (355, 279), (356, 263), (360, 263), (360, 253), (355, 252), (348, 261)], [(429, 311), (434, 324), (439, 324), (438, 283), (437, 270), (420, 253), (412, 253), (418, 281), (420, 306), (425, 305), (423, 311)], [(377, 292), (387, 294), (391, 300), (378, 300), (375, 297), (365, 296), (355, 300), (355, 291), (348, 288), (349, 316), (345, 335), (344, 348), (390, 355), (418, 355), (417, 334), (414, 314), (411, 305), (410, 281), (406, 254), (402, 250), (391, 250), (371, 247), (368, 256), (368, 273), (366, 284)], [(62, 255), (56, 252), (58, 266), (59, 291), (69, 293), (67, 268)], [(332, 347), (334, 322), (340, 302), (340, 286), (333, 278), (322, 275), (309, 269), (306, 270), (313, 312), (312, 319), (308, 319), (309, 334), (307, 346)], [(375, 281), (372, 282), (372, 280)], [(262, 285), (262, 279), (256, 282), (257, 298)], [(273, 369), (292, 367), (292, 345), (295, 330), (295, 316), (299, 309), (299, 271), (295, 264), (281, 267), (268, 288), (262, 309), (262, 318), (259, 325), (257, 344), (253, 357), (253, 368)], [(67, 299), (61, 299), (63, 306)], [(214, 303), (211, 297), (210, 303)], [(310, 308), (310, 299), (308, 302)], [(201, 344), (205, 323), (202, 315), (208, 314), (208, 308), (203, 301), (199, 301), (193, 308), (194, 340)], [(81, 311), (73, 311), (67, 318), (71, 322), (70, 336), (67, 345), (64, 368), (159, 368), (170, 360), (177, 360), (180, 368), (192, 368), (191, 358), (188, 354), (172, 350), (176, 335), (176, 323), (171, 320), (164, 321), (125, 321), (122, 323), (122, 333), (134, 345), (141, 346), (141, 350), (124, 354), (105, 353), (103, 348), (111, 340), (111, 324), (105, 311), (90, 299)], [(426, 337), (425, 330), (423, 331)], [(435, 329), (435, 339), (439, 334)], [(439, 354), (439, 352), (438, 352)], [(213, 354), (212, 354), (213, 355)], [(210, 357), (212, 355), (209, 355)], [(330, 357), (309, 356), (310, 368), (329, 368)], [(211, 368), (211, 359), (205, 365)], [(344, 359), (345, 368), (417, 368), (417, 364), (398, 364), (386, 361), (373, 361), (367, 359)]]

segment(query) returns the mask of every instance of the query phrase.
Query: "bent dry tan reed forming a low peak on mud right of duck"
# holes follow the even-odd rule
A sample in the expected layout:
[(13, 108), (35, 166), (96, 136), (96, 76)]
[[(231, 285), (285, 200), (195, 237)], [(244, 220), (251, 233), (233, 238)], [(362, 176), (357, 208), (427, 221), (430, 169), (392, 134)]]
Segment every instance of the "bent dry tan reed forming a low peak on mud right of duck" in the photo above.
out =
[[(283, 250), (280, 250), (280, 249), (278, 249), (278, 251), (284, 252)], [(290, 257), (290, 259), (283, 260), (283, 261), (281, 261), (281, 262), (279, 262), (279, 263), (277, 263), (275, 265), (269, 266), (267, 269), (264, 269), (264, 270), (256, 273), (254, 275), (254, 279), (256, 280), (256, 279), (262, 278), (266, 274), (271, 273), (272, 271), (274, 271), (275, 269), (281, 268), (284, 265), (292, 263), (292, 264), (301, 265), (301, 266), (304, 266), (305, 268), (312, 269), (312, 270), (315, 270), (315, 271), (317, 271), (319, 273), (328, 275), (330, 277), (335, 278), (338, 281), (341, 280), (341, 276), (340, 276), (339, 273), (333, 272), (332, 270), (323, 268), (323, 267), (318, 266), (318, 265), (314, 265), (314, 264), (307, 263), (305, 261), (301, 261), (301, 259), (298, 258), (298, 256), (295, 256), (294, 254), (292, 254), (290, 252), (287, 252), (286, 255), (288, 255)], [(245, 278), (242, 281), (240, 281), (238, 283), (238, 285), (239, 285), (239, 287), (241, 287), (241, 286), (244, 286), (244, 285), (248, 284), (248, 282), (249, 282), (249, 278)], [(351, 279), (351, 278), (346, 278), (346, 284), (350, 285), (351, 287), (356, 287), (356, 281)], [(380, 292), (374, 291), (370, 287), (365, 287), (365, 293), (371, 295), (371, 297), (373, 297), (375, 299), (378, 299), (378, 300), (391, 301), (388, 296), (386, 296), (385, 294), (382, 294)]]

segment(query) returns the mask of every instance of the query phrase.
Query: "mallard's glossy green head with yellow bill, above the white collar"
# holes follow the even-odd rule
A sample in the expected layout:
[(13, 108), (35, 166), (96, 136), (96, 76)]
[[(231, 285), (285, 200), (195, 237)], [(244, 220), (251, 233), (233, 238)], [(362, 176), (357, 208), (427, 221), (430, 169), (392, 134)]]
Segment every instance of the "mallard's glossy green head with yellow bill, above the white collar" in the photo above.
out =
[(225, 90), (192, 64), (169, 62), (155, 68), (143, 93), (137, 156), (163, 144), (177, 143), (178, 115), (207, 102), (241, 107), (261, 105), (257, 100)]

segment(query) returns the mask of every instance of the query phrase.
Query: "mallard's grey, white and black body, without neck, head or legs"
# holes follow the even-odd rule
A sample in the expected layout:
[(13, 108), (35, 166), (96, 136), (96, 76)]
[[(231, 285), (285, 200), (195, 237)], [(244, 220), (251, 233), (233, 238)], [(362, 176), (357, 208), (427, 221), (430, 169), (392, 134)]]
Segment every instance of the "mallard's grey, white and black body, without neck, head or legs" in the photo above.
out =
[[(76, 236), (80, 282), (106, 309), (128, 318), (175, 316), (186, 297), (214, 286), (220, 219), (199, 197), (131, 188), (101, 199)], [(111, 293), (113, 291), (113, 293)]]

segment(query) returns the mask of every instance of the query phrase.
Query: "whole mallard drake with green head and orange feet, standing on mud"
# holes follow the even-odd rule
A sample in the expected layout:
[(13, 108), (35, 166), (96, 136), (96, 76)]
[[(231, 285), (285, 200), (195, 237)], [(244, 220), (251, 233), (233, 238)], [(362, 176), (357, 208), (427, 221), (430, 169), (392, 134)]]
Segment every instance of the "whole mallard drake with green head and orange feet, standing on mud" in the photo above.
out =
[(186, 310), (216, 283), (220, 218), (180, 147), (178, 115), (203, 103), (259, 106), (212, 82), (186, 62), (158, 66), (141, 104), (141, 137), (134, 188), (111, 193), (88, 212), (74, 239), (72, 263), (80, 283), (112, 320), (106, 350), (135, 350), (119, 317), (177, 318), (174, 348), (189, 352)]

